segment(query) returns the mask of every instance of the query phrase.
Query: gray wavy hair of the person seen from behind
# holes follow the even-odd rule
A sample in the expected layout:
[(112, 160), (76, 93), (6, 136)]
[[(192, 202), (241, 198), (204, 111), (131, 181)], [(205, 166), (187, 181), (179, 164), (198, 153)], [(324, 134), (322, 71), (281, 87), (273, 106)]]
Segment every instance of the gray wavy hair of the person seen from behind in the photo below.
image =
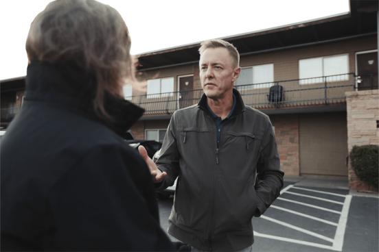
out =
[(122, 16), (94, 0), (56, 0), (30, 25), (27, 57), (49, 63), (76, 64), (91, 71), (97, 82), (95, 112), (104, 109), (104, 92), (122, 96), (124, 80), (134, 73), (130, 36)]

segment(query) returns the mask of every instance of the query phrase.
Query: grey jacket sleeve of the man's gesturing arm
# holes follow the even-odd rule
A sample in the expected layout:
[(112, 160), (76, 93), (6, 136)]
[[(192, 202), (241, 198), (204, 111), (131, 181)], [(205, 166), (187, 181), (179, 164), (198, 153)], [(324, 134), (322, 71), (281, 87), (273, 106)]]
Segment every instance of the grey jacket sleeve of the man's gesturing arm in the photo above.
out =
[(174, 184), (180, 171), (179, 151), (176, 142), (176, 112), (171, 117), (159, 154), (157, 166), (161, 171), (165, 171), (168, 174), (163, 182), (156, 186), (157, 190), (163, 190)]

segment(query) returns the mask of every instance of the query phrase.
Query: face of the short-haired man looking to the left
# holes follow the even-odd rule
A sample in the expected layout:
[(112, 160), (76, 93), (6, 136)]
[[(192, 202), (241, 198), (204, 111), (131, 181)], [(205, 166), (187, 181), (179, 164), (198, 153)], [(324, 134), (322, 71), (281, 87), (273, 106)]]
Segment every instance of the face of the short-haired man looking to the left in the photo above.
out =
[(208, 48), (200, 55), (200, 82), (210, 99), (222, 99), (233, 93), (233, 82), (240, 74), (229, 51), (223, 47)]

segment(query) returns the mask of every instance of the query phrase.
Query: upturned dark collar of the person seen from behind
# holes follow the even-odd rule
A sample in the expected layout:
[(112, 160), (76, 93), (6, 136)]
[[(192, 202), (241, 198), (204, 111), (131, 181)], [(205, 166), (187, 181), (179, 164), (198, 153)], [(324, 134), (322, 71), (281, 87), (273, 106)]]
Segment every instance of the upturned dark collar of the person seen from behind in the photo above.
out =
[(125, 99), (104, 94), (104, 107), (113, 120), (95, 114), (95, 78), (69, 64), (33, 61), (27, 66), (25, 101), (44, 101), (100, 121), (120, 136), (142, 116), (144, 110)]

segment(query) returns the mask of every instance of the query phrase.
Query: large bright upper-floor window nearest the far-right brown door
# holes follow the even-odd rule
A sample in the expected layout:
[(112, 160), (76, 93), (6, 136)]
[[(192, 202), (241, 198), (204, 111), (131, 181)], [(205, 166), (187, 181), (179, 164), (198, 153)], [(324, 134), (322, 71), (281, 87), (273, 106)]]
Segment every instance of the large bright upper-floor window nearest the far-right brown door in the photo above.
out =
[[(315, 84), (325, 81), (349, 79), (349, 56), (347, 54), (299, 60), (299, 84)], [(330, 76), (336, 75), (336, 76)]]

